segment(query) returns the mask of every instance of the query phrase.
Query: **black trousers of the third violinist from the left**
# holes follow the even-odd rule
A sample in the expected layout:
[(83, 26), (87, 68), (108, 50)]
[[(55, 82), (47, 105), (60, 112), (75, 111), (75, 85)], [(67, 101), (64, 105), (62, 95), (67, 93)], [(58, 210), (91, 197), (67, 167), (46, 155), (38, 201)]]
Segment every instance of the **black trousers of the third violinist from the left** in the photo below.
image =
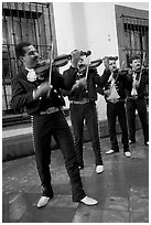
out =
[(109, 137), (111, 142), (111, 149), (119, 151), (117, 131), (116, 131), (116, 120), (119, 120), (121, 128), (121, 142), (123, 144), (123, 151), (129, 151), (129, 140), (128, 140), (128, 127), (125, 101), (118, 101), (116, 104), (107, 103), (107, 119), (109, 128)]

